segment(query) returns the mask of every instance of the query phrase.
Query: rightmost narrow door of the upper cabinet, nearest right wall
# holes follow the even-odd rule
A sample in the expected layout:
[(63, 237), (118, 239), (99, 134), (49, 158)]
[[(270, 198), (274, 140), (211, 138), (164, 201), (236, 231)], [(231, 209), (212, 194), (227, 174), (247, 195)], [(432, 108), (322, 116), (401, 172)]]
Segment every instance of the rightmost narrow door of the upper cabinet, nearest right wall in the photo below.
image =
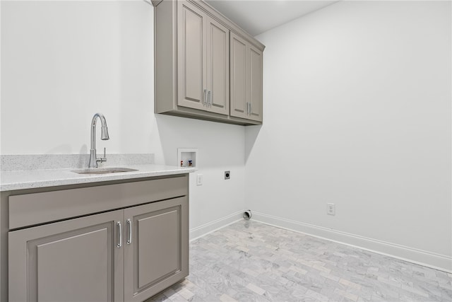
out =
[(262, 122), (262, 52), (249, 47), (249, 119)]

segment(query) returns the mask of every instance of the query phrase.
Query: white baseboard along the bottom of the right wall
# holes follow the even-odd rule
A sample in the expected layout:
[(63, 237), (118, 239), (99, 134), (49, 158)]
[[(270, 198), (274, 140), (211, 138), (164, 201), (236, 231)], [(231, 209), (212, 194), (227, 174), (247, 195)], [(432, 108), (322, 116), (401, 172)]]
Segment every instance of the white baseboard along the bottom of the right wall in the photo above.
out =
[(252, 220), (452, 273), (452, 257), (253, 211)]

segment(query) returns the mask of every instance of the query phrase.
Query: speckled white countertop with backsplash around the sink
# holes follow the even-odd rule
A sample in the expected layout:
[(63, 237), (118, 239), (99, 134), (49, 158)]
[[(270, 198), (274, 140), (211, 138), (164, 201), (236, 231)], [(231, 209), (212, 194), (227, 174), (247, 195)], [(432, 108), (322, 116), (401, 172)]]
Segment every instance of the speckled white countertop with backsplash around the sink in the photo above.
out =
[[(30, 161), (30, 157), (32, 158)], [(55, 187), (59, 185), (78, 185), (91, 182), (105, 182), (112, 180), (132, 180), (138, 178), (150, 178), (156, 176), (165, 175), (177, 175), (184, 173), (194, 172), (194, 168), (179, 168), (173, 165), (155, 165), (150, 163), (153, 161), (153, 156), (149, 157), (148, 160), (143, 160), (143, 155), (127, 155), (128, 161), (124, 161), (124, 156), (117, 156), (120, 160), (115, 160), (109, 165), (102, 165), (102, 168), (131, 168), (136, 169), (136, 171), (131, 172), (120, 172), (120, 173), (105, 173), (105, 174), (78, 174), (72, 172), (72, 170), (80, 170), (86, 168), (88, 164), (85, 164), (83, 160), (76, 157), (77, 161), (81, 164), (77, 164), (76, 167), (65, 167), (65, 168), (47, 168), (47, 163), (42, 164), (43, 158), (48, 158), (49, 156), (3, 156), (2, 165), (7, 168), (0, 171), (0, 191), (13, 191), (13, 190), (23, 190), (31, 189), (37, 187)], [(52, 163), (58, 161), (61, 156), (52, 156)], [(86, 156), (85, 156), (86, 157)], [(114, 160), (114, 156), (111, 156)], [(37, 167), (35, 159), (39, 158), (41, 164)], [(141, 163), (136, 163), (137, 159)], [(67, 162), (67, 156), (64, 158)], [(12, 170), (8, 169), (8, 161), (24, 162), (28, 161), (28, 166), (20, 166), (23, 170)], [(46, 160), (44, 160), (46, 161)], [(48, 159), (47, 159), (48, 161)], [(145, 163), (143, 163), (145, 161)], [(146, 162), (147, 161), (147, 162)], [(122, 164), (124, 163), (124, 164)], [(72, 163), (70, 164), (72, 165)], [(30, 170), (26, 169), (30, 167)], [(37, 168), (35, 168), (37, 167)]]

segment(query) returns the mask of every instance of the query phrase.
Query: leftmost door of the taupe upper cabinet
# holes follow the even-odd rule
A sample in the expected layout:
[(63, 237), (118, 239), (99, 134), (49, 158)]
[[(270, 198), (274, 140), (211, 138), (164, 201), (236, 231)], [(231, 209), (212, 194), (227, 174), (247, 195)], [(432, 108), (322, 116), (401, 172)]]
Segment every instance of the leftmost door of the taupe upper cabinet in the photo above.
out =
[[(196, 6), (179, 1), (177, 105), (206, 108), (206, 14)], [(170, 51), (170, 50), (168, 50)]]

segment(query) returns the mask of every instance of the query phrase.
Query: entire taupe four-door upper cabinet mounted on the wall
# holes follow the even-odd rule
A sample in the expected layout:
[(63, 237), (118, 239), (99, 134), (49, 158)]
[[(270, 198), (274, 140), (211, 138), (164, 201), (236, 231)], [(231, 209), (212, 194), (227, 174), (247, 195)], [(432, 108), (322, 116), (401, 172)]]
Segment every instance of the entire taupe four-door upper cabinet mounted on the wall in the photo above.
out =
[[(203, 1), (155, 1), (154, 5), (155, 113), (261, 124), (264, 45)], [(232, 36), (244, 41), (244, 56), (232, 53), (237, 51)], [(251, 49), (257, 59), (251, 59)], [(244, 71), (242, 78), (233, 78), (230, 73), (238, 69)], [(240, 91), (243, 98), (234, 99), (232, 94)], [(236, 108), (232, 108), (234, 104)], [(252, 107), (254, 114), (251, 109), (246, 111)]]

